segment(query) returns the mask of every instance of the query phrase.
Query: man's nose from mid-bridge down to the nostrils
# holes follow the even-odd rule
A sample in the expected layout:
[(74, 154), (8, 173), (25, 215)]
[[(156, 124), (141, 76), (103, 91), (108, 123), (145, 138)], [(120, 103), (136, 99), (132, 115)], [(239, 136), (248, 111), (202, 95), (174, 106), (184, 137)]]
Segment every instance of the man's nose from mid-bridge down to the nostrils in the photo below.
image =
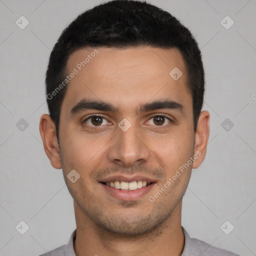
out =
[(132, 167), (147, 161), (150, 150), (146, 145), (145, 135), (142, 134), (135, 125), (131, 125), (126, 131), (118, 127), (107, 151), (108, 160), (122, 167)]

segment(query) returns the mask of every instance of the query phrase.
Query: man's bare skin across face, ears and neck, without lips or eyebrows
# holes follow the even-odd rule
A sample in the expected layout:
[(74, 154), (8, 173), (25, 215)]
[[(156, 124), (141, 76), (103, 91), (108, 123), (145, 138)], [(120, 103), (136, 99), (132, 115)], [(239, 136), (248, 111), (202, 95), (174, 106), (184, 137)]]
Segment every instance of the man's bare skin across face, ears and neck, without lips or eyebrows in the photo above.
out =
[[(93, 49), (73, 52), (67, 62), (67, 73)], [(68, 84), (60, 111), (59, 145), (48, 114), (41, 116), (39, 125), (50, 163), (62, 168), (74, 199), (75, 253), (180, 255), (184, 246), (182, 196), (192, 168), (197, 168), (205, 157), (209, 113), (200, 113), (194, 132), (192, 97), (178, 49), (97, 49), (95, 57)], [(176, 81), (169, 75), (175, 66), (183, 73)], [(110, 102), (118, 111), (83, 109), (71, 115), (70, 110), (84, 98)], [(139, 111), (141, 104), (165, 99), (181, 104), (183, 111)], [(84, 122), (90, 114), (102, 115), (102, 123), (93, 126), (93, 118)], [(151, 114), (163, 114), (166, 118), (159, 124)], [(123, 118), (131, 123), (126, 131), (118, 127)], [(196, 152), (200, 155), (192, 164), (151, 202), (148, 197)], [(80, 174), (74, 183), (67, 178), (72, 169)], [(100, 178), (111, 174), (139, 174), (155, 183), (136, 200), (120, 200), (99, 183)]]

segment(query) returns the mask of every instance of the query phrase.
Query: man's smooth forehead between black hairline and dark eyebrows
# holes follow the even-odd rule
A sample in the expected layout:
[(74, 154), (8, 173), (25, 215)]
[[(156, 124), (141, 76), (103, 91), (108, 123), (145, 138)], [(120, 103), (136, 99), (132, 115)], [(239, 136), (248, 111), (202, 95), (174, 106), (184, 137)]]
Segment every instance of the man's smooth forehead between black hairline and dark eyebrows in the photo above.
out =
[(66, 74), (70, 73), (75, 75), (63, 101), (69, 107), (84, 97), (111, 101), (123, 108), (163, 97), (191, 101), (185, 64), (176, 48), (82, 48), (68, 58)]

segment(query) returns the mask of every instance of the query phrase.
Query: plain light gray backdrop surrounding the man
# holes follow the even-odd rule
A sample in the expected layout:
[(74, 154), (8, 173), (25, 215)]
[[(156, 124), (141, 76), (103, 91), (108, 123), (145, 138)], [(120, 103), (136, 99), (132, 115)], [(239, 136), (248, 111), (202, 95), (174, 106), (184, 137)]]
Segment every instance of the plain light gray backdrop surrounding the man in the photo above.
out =
[[(0, 0), (0, 255), (44, 253), (67, 243), (75, 228), (72, 198), (44, 153), (38, 123), (47, 112), (50, 50), (66, 25), (100, 2)], [(182, 225), (191, 237), (256, 255), (256, 1), (150, 2), (191, 30), (205, 67), (209, 143), (184, 196)], [(15, 24), (21, 15), (29, 21), (24, 29)], [(229, 29), (220, 22), (226, 15), (234, 21)], [(23, 130), (22, 121), (16, 125), (21, 118), (28, 123)], [(232, 128), (230, 121), (221, 126), (226, 118)], [(15, 229), (21, 220), (29, 226), (24, 234)], [(220, 228), (226, 220), (234, 226), (229, 234)]]

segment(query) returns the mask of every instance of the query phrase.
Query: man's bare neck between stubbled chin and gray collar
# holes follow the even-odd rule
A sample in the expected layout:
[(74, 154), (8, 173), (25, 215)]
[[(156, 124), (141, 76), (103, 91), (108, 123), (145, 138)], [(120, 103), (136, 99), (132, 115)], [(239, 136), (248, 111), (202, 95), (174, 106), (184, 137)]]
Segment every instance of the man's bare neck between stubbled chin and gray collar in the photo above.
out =
[(181, 202), (161, 226), (148, 234), (137, 237), (120, 236), (98, 227), (81, 212), (75, 202), (74, 209), (76, 238), (73, 247), (76, 256), (181, 255), (184, 246)]

